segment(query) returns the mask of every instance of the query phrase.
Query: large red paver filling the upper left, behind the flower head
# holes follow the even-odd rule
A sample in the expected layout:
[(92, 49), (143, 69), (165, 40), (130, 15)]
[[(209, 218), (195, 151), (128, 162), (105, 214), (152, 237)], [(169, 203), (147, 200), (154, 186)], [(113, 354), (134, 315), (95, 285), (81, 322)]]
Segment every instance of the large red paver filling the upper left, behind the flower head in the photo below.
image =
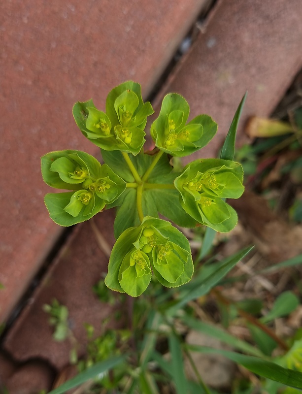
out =
[(43, 204), (40, 157), (96, 152), (71, 109), (127, 79), (147, 95), (204, 0), (43, 0), (0, 4), (0, 321), (24, 293), (61, 229)]

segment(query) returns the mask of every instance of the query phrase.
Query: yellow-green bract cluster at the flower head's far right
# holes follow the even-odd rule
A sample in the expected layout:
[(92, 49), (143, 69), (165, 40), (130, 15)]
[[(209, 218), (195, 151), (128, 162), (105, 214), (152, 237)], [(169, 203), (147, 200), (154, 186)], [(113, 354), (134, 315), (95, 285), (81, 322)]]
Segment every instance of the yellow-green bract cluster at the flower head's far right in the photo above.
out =
[(196, 221), (226, 232), (237, 223), (234, 209), (224, 198), (242, 195), (243, 171), (239, 163), (222, 159), (196, 160), (184, 168), (174, 185), (183, 209)]

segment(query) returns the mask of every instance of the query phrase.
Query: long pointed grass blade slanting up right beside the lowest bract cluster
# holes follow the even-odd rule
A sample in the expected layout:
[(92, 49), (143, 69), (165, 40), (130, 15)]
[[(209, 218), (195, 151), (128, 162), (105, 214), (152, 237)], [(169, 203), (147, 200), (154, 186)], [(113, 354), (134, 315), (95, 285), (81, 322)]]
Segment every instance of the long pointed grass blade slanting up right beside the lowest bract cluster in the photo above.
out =
[(169, 313), (173, 314), (192, 299), (196, 299), (207, 294), (224, 276), (227, 275), (227, 273), (236, 265), (236, 263), (243, 259), (243, 257), (252, 250), (252, 248), (253, 247), (248, 247), (243, 249), (242, 251), (226, 259), (225, 263), (211, 275), (206, 277), (203, 282), (192, 281), (190, 284), (190, 290), (187, 293), (182, 294), (182, 296), (176, 301), (176, 304), (170, 307)]

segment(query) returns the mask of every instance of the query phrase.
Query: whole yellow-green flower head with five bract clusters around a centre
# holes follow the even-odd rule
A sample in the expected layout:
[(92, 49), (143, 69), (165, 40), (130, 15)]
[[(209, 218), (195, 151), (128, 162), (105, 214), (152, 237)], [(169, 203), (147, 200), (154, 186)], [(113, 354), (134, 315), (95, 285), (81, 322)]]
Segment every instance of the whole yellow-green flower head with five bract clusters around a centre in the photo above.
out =
[[(101, 148), (104, 164), (81, 151), (56, 151), (41, 159), (47, 185), (66, 190), (49, 193), (45, 204), (61, 226), (90, 219), (103, 209), (117, 208), (116, 243), (105, 284), (130, 296), (141, 295), (152, 275), (171, 288), (187, 283), (194, 271), (189, 241), (169, 222), (181, 227), (205, 225), (227, 232), (237, 223), (226, 198), (243, 193), (243, 171), (233, 161), (241, 101), (220, 159), (196, 160), (176, 171), (173, 157), (204, 147), (217, 131), (208, 115), (188, 122), (189, 104), (168, 94), (150, 134), (155, 148), (144, 152), (147, 117), (154, 113), (143, 102), (141, 87), (128, 81), (106, 99), (105, 112), (92, 100), (77, 102), (73, 116), (83, 135)], [(160, 219), (164, 216), (169, 221)]]

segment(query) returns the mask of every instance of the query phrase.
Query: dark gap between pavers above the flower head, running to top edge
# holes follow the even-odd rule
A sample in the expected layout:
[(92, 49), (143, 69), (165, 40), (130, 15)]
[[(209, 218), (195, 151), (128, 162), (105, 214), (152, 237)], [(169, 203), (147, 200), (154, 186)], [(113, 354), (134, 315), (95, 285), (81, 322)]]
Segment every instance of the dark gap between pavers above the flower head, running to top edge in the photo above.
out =
[[(156, 99), (163, 86), (166, 85), (169, 75), (173, 73), (177, 64), (181, 61), (183, 56), (191, 48), (192, 44), (194, 43), (194, 41), (198, 36), (199, 31), (202, 30), (203, 26), (205, 26), (208, 17), (212, 13), (213, 9), (216, 7), (218, 2), (219, 0), (208, 0), (204, 4), (203, 8), (201, 9), (201, 12), (198, 14), (196, 20), (189, 28), (187, 34), (184, 36), (179, 47), (176, 49), (174, 55), (172, 56), (170, 62), (168, 63), (168, 66), (166, 66), (161, 76), (158, 78), (157, 82), (155, 82), (154, 87), (149, 93), (146, 101), (152, 102), (153, 100)], [(188, 41), (189, 44), (187, 48), (186, 45), (184, 45), (185, 41)]]

